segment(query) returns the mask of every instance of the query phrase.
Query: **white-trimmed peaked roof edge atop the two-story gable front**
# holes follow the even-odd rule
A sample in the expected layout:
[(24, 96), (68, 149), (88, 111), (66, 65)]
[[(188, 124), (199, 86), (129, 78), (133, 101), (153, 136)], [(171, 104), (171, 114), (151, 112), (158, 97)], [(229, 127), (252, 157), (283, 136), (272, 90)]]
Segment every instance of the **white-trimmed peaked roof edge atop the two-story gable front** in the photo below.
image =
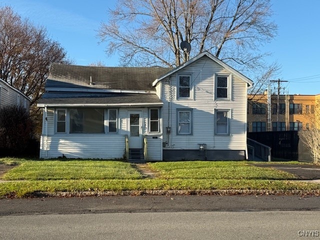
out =
[(197, 56), (189, 59), (188, 61), (184, 62), (183, 64), (173, 68), (172, 70), (164, 73), (163, 75), (161, 75), (159, 78), (155, 79), (152, 82), (152, 86), (155, 86), (159, 81), (161, 81), (162, 79), (164, 79), (165, 77), (175, 73), (176, 71), (181, 70), (182, 68), (190, 65), (191, 63), (199, 60), (201, 57), (203, 56), (207, 56), (209, 57), (211, 60), (215, 61), (217, 64), (219, 64), (220, 66), (222, 66), (225, 70), (227, 70), (228, 72), (234, 74), (235, 76), (237, 76), (239, 79), (241, 79), (242, 81), (246, 82), (248, 84), (248, 86), (253, 85), (253, 81), (250, 80), (248, 77), (244, 76), (243, 74), (241, 74), (240, 72), (238, 72), (237, 70), (235, 70), (234, 68), (232, 68), (231, 66), (229, 66), (228, 64), (224, 63), (223, 61), (219, 60), (218, 58), (216, 58), (215, 56), (213, 56), (211, 53), (209, 53), (208, 51), (203, 51), (200, 54), (198, 54)]

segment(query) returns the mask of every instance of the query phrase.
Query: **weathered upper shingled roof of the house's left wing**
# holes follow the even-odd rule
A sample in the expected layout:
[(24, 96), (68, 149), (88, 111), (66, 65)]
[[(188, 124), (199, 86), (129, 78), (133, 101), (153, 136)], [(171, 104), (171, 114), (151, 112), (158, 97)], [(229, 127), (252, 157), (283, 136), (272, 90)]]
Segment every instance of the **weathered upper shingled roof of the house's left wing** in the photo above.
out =
[(53, 63), (45, 88), (154, 90), (152, 81), (171, 69), (167, 67), (100, 67)]

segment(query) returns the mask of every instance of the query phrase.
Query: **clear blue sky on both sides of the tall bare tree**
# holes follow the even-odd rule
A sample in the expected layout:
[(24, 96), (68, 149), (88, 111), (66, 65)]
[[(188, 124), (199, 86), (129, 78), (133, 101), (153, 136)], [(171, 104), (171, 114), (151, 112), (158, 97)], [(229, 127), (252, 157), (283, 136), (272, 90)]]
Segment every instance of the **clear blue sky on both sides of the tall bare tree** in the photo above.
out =
[[(106, 66), (116, 66), (117, 56), (107, 57), (105, 44), (98, 44), (96, 38), (100, 22), (107, 19), (107, 8), (115, 1), (0, 0), (0, 6), (10, 5), (22, 17), (43, 25), (75, 64), (100, 60)], [(289, 94), (320, 93), (319, 9), (320, 0), (272, 0), (272, 19), (278, 24), (278, 35), (263, 49), (273, 53), (268, 61), (281, 65), (278, 78), (289, 80), (282, 84)]]

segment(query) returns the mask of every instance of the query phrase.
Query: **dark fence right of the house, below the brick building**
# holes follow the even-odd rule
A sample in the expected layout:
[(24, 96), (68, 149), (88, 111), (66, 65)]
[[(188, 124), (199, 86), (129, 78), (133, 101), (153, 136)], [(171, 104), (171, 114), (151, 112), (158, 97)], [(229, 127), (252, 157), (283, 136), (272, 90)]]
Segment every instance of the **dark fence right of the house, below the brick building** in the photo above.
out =
[(299, 136), (297, 131), (248, 132), (247, 137), (270, 146), (272, 159), (298, 159)]

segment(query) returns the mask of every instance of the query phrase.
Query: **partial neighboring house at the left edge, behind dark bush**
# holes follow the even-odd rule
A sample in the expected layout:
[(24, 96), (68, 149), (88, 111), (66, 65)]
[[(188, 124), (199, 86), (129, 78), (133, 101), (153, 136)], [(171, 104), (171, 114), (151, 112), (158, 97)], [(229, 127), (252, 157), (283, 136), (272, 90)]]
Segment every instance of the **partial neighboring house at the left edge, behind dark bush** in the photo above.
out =
[(0, 78), (0, 108), (17, 105), (29, 110), (30, 98)]

